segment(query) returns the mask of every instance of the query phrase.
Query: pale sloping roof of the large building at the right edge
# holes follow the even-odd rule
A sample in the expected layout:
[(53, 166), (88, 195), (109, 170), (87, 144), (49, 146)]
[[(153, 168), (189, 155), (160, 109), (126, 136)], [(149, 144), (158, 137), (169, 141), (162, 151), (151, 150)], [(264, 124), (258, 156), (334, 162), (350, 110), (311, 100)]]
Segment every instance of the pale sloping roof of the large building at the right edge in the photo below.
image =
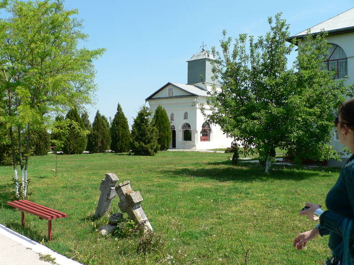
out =
[(329, 35), (352, 32), (354, 31), (354, 8), (351, 8), (333, 18), (327, 19), (326, 21), (309, 29), (301, 31), (289, 39), (302, 38), (307, 35), (308, 30), (310, 30), (311, 34), (316, 34), (321, 32), (321, 30), (325, 30)]

